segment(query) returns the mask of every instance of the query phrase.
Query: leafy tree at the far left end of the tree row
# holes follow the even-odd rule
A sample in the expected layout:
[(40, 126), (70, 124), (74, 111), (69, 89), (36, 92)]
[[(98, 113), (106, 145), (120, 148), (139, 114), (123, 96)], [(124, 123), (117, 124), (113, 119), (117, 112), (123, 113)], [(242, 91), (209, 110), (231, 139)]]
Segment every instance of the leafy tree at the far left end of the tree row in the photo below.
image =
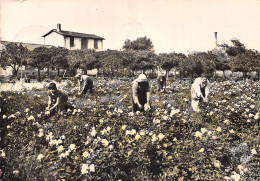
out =
[(25, 64), (29, 56), (29, 50), (23, 47), (22, 44), (9, 43), (2, 52), (0, 65), (2, 67), (10, 66), (14, 70), (14, 75), (17, 76), (19, 68)]

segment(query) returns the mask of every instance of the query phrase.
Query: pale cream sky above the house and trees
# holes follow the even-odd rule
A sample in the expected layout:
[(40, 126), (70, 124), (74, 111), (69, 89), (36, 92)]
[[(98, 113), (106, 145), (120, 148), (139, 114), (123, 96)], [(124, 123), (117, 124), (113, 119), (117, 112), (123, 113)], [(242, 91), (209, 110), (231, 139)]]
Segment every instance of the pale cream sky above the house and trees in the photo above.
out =
[(58, 23), (105, 38), (103, 50), (146, 36), (156, 53), (208, 51), (217, 32), (260, 51), (260, 0), (1, 0), (3, 41), (43, 44)]

